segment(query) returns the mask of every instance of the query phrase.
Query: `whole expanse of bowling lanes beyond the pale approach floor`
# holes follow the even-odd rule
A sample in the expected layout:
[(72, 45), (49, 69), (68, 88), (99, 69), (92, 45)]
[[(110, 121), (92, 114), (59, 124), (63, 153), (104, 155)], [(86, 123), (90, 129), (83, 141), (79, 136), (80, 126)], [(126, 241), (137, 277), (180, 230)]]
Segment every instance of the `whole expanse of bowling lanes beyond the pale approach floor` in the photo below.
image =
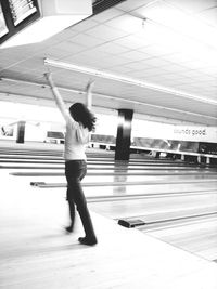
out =
[[(0, 156), (0, 162), (8, 166), (9, 174), (14, 173), (15, 182), (28, 188), (28, 198), (37, 193), (42, 198), (60, 196), (64, 202), (62, 156), (9, 155)], [(31, 187), (29, 183), (33, 181), (51, 183), (54, 187)], [(62, 186), (55, 187), (59, 184)], [(216, 168), (149, 158), (133, 159), (126, 166), (125, 162), (117, 165), (113, 159), (92, 155), (88, 157), (88, 174), (82, 184), (92, 211), (115, 220), (141, 219), (146, 222), (140, 228), (144, 234), (209, 260), (217, 259), (214, 218), (217, 213)], [(200, 222), (196, 221), (199, 218)]]

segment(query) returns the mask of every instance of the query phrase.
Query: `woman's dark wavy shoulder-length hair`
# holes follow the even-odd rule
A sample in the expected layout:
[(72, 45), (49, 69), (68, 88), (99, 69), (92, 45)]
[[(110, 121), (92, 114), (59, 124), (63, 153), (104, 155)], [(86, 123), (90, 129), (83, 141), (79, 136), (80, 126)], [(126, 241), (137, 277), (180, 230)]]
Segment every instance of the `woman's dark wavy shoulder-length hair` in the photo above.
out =
[(69, 113), (74, 120), (80, 122), (84, 128), (88, 128), (89, 131), (94, 130), (97, 118), (82, 103), (73, 104)]

